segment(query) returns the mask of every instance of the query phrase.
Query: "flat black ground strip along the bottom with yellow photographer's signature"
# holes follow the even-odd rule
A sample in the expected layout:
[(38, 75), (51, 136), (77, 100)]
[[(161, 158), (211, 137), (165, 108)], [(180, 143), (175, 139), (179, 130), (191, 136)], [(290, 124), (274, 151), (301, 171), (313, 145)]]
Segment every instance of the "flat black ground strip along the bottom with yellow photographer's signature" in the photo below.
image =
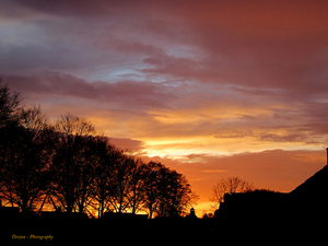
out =
[[(186, 218), (155, 220), (44, 220), (16, 218), (1, 221), (1, 245), (204, 245), (207, 243), (295, 245), (325, 242), (325, 218), (266, 221)], [(46, 239), (48, 236), (49, 238)], [(25, 237), (19, 239), (19, 237)], [(52, 239), (50, 239), (52, 237)]]

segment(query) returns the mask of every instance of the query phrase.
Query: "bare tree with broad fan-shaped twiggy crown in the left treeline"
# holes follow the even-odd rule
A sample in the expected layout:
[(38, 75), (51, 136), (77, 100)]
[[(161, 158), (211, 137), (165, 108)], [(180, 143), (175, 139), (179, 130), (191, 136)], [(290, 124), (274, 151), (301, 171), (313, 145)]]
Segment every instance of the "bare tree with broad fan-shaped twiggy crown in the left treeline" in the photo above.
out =
[[(91, 189), (92, 150), (91, 122), (77, 116), (61, 115), (55, 124), (55, 156), (50, 172), (52, 173), (52, 195), (60, 201), (67, 212), (79, 210), (84, 212), (85, 198)], [(91, 149), (90, 149), (91, 148)]]

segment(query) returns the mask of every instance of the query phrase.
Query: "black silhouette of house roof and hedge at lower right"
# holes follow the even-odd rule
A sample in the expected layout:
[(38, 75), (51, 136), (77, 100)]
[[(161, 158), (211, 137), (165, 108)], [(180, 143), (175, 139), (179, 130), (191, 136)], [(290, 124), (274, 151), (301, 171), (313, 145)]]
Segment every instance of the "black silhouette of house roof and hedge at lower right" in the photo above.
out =
[(215, 216), (222, 231), (227, 234), (229, 229), (234, 229), (244, 235), (257, 232), (290, 241), (303, 242), (301, 238), (304, 238), (313, 242), (326, 235), (328, 230), (327, 194), (328, 165), (291, 192), (255, 190), (226, 194)]

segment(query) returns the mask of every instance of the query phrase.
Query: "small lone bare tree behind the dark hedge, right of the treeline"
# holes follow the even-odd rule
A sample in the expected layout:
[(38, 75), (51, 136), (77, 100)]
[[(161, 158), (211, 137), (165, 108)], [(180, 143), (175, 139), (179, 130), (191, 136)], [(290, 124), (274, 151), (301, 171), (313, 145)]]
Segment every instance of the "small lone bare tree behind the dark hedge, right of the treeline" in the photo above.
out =
[(254, 184), (245, 181), (239, 177), (221, 178), (216, 185), (213, 186), (213, 196), (210, 201), (212, 207), (218, 209), (220, 202), (223, 201), (224, 194), (247, 192), (254, 190)]

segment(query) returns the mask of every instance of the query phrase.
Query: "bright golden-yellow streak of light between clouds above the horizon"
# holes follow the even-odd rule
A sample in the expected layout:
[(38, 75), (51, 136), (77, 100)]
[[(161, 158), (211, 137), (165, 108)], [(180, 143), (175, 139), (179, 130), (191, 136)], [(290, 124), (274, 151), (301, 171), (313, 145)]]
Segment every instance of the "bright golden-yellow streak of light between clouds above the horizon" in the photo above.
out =
[[(262, 150), (319, 150), (314, 144), (300, 142), (298, 145), (290, 142), (272, 143), (271, 141), (259, 141), (257, 137), (232, 138), (220, 137), (190, 137), (190, 138), (167, 138), (167, 139), (141, 139), (143, 142), (142, 152), (148, 156), (171, 156), (179, 159), (190, 154), (208, 154), (226, 156), (244, 152), (255, 153)], [(260, 142), (260, 143), (259, 143)], [(180, 159), (181, 159), (180, 157)]]

